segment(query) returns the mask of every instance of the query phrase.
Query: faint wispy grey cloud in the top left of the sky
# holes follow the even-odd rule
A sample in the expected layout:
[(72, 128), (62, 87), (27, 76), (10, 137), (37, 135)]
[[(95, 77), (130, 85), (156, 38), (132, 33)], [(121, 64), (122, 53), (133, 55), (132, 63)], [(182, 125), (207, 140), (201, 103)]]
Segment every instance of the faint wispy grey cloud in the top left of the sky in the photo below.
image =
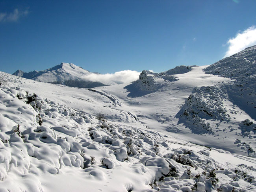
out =
[(14, 9), (12, 13), (0, 13), (0, 22), (15, 22), (20, 17), (28, 15), (28, 9), (19, 10)]

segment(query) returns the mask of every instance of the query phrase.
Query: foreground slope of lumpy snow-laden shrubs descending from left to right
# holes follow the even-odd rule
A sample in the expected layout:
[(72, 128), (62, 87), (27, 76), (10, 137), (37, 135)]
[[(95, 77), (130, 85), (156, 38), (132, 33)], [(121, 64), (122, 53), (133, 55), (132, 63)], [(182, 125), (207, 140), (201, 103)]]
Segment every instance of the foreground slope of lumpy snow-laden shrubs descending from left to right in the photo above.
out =
[[(219, 164), (206, 148), (169, 148), (169, 141), (152, 131), (99, 120), (18, 87), (1, 86), (0, 98), (2, 191), (52, 191), (43, 185), (44, 176), (65, 179), (72, 167), (95, 191), (256, 188), (255, 168)], [(100, 184), (105, 181), (108, 186)]]

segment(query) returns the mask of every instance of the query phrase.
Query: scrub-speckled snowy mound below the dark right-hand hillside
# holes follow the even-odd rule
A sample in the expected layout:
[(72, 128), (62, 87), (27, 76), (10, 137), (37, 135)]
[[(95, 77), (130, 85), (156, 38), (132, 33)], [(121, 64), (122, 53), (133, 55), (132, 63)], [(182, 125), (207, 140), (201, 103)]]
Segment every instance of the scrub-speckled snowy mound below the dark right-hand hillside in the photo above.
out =
[(226, 98), (227, 93), (224, 88), (196, 87), (176, 117), (180, 118), (180, 122), (184, 122), (193, 133), (211, 132), (211, 126), (206, 120), (229, 120), (223, 105), (223, 100)]

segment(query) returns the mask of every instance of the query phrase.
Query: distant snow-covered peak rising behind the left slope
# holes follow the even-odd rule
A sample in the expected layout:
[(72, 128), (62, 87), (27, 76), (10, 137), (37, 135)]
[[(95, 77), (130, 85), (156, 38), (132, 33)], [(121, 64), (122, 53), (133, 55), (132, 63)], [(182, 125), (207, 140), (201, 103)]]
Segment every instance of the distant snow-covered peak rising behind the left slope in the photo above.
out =
[(33, 79), (35, 81), (56, 83), (69, 87), (93, 88), (104, 85), (116, 85), (113, 81), (91, 81), (88, 76), (91, 72), (72, 63), (61, 63), (44, 71), (23, 72), (17, 70), (13, 75)]

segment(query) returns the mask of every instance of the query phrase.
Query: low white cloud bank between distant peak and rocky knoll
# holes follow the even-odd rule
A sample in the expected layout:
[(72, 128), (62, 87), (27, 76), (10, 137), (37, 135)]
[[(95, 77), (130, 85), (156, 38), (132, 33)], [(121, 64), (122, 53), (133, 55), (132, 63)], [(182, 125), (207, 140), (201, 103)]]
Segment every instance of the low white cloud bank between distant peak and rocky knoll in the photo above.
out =
[(119, 72), (115, 72), (114, 74), (89, 74), (85, 78), (91, 81), (114, 81), (115, 83), (130, 83), (139, 79), (140, 72), (132, 71), (132, 70), (123, 70)]

